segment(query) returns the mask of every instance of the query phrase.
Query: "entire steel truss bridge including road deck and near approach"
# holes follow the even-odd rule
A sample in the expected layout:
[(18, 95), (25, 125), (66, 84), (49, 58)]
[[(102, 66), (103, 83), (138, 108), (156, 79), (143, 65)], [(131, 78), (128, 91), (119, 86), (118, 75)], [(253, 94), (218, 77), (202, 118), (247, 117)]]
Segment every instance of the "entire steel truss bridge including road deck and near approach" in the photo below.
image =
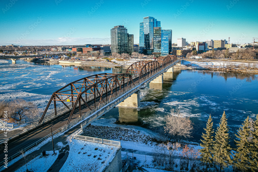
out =
[[(177, 62), (176, 56), (168, 55), (154, 61), (135, 62), (126, 73), (101, 73), (67, 84), (52, 94), (41, 118), (31, 123), (31, 128), (18, 134), (15, 133), (17, 130), (8, 132), (11, 137), (0, 142), (0, 155), (4, 157), (3, 148), (7, 141), (10, 161), (20, 155), (21, 149), (27, 151), (51, 137), (51, 127), (53, 134), (57, 134), (82, 121), (81, 126), (91, 124)], [(52, 104), (54, 110), (48, 111)], [(4, 165), (4, 161), (0, 164)]]

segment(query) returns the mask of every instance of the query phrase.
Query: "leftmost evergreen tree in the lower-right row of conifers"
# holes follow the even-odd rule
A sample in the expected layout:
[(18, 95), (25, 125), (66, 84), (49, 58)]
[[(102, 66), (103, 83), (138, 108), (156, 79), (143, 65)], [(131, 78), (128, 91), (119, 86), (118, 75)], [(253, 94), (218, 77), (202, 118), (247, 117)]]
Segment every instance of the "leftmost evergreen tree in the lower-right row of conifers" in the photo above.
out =
[(204, 140), (201, 140), (200, 146), (203, 147), (203, 149), (200, 149), (200, 157), (201, 162), (206, 163), (206, 172), (208, 171), (208, 165), (211, 165), (213, 163), (213, 145), (214, 145), (214, 128), (213, 128), (213, 122), (211, 118), (211, 114), (209, 116), (209, 119), (206, 124), (206, 128), (204, 128), (206, 131), (206, 134), (203, 133), (201, 137), (203, 137)]

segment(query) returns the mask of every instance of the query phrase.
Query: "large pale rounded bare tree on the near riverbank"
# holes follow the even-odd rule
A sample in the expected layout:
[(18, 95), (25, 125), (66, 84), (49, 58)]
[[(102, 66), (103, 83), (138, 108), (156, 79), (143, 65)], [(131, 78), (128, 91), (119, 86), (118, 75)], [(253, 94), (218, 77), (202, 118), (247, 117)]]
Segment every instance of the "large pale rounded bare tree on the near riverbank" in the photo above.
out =
[(174, 109), (171, 109), (170, 112), (171, 114), (165, 117), (166, 126), (164, 126), (165, 132), (170, 135), (170, 140), (173, 138), (174, 141), (180, 142), (181, 138), (192, 137), (192, 121), (178, 111), (177, 114), (174, 114)]

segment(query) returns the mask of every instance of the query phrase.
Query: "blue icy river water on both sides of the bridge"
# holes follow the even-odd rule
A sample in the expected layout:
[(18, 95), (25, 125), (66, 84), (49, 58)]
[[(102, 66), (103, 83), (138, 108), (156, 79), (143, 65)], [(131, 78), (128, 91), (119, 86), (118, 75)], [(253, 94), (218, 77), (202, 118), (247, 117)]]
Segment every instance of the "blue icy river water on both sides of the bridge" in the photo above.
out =
[[(17, 60), (0, 61), (1, 100), (25, 99), (44, 109), (51, 94), (66, 84), (96, 73), (123, 73), (125, 69), (50, 65)], [(258, 113), (258, 75), (220, 71), (181, 70), (163, 76), (163, 84), (141, 89), (139, 108), (116, 107), (103, 118), (151, 130), (163, 127), (170, 109), (179, 108), (194, 124), (191, 141), (200, 142), (209, 114), (214, 128), (225, 111), (231, 143), (244, 119)]]

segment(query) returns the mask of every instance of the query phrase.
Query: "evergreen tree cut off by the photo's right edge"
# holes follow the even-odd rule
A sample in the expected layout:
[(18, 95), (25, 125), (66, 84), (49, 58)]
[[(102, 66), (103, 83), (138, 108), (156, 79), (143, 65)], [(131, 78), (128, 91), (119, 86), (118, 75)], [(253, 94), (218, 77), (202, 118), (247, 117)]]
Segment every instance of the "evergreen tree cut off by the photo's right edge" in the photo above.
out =
[(252, 148), (251, 148), (251, 169), (252, 171), (258, 171), (258, 114), (256, 115), (256, 120), (253, 124), (252, 133)]

